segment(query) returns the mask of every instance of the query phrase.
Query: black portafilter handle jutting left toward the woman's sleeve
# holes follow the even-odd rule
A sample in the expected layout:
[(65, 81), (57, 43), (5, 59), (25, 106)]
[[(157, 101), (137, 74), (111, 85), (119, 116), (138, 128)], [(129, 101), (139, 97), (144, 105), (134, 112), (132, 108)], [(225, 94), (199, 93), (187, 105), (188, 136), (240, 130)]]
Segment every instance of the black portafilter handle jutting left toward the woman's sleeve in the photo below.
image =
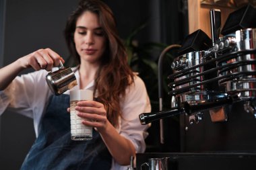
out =
[(155, 120), (160, 120), (162, 118), (176, 116), (184, 113), (185, 111), (183, 110), (183, 108), (172, 108), (170, 110), (139, 114), (139, 120), (141, 124), (149, 124), (150, 122), (153, 122)]

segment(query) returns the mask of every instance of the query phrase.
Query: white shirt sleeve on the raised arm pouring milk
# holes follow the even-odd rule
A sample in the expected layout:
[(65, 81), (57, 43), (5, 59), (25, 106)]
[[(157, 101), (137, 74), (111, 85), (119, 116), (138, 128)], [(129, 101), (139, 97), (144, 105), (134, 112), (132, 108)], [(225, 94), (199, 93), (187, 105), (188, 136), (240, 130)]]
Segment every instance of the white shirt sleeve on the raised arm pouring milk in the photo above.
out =
[(41, 70), (18, 76), (5, 90), (0, 91), (0, 114), (9, 110), (33, 118), (36, 136), (46, 99), (51, 95), (45, 81), (46, 75), (47, 71)]

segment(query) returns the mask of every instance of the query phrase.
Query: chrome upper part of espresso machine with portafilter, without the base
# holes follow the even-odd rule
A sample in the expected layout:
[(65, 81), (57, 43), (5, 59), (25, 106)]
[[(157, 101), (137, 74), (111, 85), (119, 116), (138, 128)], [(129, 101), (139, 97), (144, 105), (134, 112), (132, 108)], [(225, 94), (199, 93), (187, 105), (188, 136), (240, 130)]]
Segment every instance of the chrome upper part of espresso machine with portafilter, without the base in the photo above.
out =
[(173, 74), (168, 76), (172, 108), (140, 114), (141, 124), (178, 114), (189, 116), (189, 122), (193, 124), (201, 120), (205, 110), (210, 112), (212, 122), (225, 122), (228, 120), (226, 106), (236, 102), (243, 102), (244, 110), (256, 117), (256, 9), (248, 5), (239, 10), (245, 8), (253, 13), (253, 22), (249, 24), (253, 27), (232, 26), (231, 13), (221, 38), (220, 10), (211, 9), (210, 46), (205, 46), (204, 41), (199, 50), (187, 47), (193, 43), (191, 36), (194, 34), (206, 35), (201, 30), (187, 37), (181, 55), (171, 63)]

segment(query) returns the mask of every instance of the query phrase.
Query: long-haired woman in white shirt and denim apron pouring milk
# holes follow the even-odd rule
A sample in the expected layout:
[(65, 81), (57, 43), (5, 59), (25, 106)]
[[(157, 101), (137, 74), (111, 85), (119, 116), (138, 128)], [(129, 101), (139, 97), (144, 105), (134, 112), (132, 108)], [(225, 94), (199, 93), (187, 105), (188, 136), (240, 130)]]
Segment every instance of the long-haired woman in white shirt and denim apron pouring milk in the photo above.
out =
[[(49, 48), (32, 52), (0, 70), (0, 113), (9, 108), (34, 119), (37, 138), (22, 169), (126, 169), (145, 150), (148, 126), (138, 115), (151, 108), (143, 81), (127, 65), (112, 11), (100, 0), (80, 1), (65, 38), (78, 62), (74, 89), (91, 89), (96, 97), (76, 108), (82, 123), (94, 127), (93, 139), (70, 139), (69, 91), (55, 96), (46, 85), (47, 71), (63, 58)], [(17, 76), (30, 67), (36, 71)]]

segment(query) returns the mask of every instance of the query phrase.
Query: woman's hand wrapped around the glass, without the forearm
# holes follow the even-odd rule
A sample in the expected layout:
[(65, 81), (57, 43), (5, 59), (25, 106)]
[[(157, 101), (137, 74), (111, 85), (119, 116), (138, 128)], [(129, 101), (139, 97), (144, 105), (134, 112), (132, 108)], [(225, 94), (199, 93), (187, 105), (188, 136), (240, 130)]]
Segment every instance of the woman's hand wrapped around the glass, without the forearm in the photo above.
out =
[(99, 132), (106, 128), (108, 119), (102, 103), (88, 100), (78, 101), (75, 110), (77, 110), (77, 116), (85, 119), (82, 121), (84, 125), (92, 126)]

